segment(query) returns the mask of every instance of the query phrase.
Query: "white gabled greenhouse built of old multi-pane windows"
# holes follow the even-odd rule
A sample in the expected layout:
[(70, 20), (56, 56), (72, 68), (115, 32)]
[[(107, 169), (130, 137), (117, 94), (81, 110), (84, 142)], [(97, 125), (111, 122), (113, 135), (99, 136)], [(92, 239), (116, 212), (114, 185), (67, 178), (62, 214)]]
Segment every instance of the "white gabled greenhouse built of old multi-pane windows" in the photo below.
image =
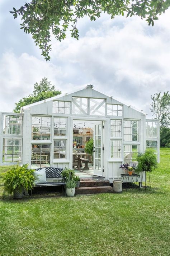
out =
[[(85, 152), (91, 138), (93, 155)], [(88, 85), (24, 106), (20, 114), (1, 112), (0, 145), (0, 165), (74, 168), (81, 178), (113, 183), (120, 165), (136, 164), (147, 147), (159, 162), (159, 121)]]

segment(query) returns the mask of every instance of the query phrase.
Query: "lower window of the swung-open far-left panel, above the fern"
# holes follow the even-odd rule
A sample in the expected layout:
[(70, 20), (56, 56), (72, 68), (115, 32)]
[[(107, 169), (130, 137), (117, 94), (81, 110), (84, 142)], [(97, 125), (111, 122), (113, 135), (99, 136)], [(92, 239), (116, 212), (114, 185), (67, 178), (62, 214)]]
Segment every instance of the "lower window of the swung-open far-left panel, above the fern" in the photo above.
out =
[(3, 138), (3, 163), (22, 162), (22, 138)]

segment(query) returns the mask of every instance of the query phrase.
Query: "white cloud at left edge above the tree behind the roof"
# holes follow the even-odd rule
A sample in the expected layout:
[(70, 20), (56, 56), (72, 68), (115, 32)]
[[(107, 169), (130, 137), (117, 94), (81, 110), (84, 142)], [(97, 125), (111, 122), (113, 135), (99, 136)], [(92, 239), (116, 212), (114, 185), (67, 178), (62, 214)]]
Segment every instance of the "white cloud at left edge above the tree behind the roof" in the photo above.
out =
[(0, 60), (1, 111), (12, 111), (15, 102), (33, 92), (34, 83), (47, 77), (57, 89), (61, 89), (58, 77), (61, 68), (23, 53), (17, 57), (12, 51), (3, 54)]

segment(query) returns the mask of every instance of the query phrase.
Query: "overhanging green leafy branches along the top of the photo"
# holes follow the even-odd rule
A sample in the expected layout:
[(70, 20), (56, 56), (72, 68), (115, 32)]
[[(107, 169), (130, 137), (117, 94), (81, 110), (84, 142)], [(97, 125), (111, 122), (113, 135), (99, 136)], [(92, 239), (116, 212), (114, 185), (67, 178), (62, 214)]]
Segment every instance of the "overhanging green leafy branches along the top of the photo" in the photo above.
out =
[(78, 39), (77, 21), (84, 16), (95, 21), (101, 13), (106, 12), (113, 19), (126, 12), (126, 17), (137, 15), (154, 26), (157, 16), (165, 13), (169, 6), (170, 0), (31, 0), (10, 13), (14, 18), (22, 17), (21, 29), (32, 34), (47, 61), (50, 59), (51, 32), (59, 41), (66, 37), (68, 30), (71, 37)]

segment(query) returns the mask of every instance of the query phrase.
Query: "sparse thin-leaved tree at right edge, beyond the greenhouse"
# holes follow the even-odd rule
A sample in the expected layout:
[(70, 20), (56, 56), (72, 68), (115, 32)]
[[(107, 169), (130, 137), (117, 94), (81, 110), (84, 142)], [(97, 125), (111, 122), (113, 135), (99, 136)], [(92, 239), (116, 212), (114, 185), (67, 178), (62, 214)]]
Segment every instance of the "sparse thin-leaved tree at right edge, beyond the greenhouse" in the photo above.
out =
[(151, 112), (155, 115), (156, 119), (160, 121), (160, 127), (170, 126), (170, 94), (164, 92), (161, 96), (161, 92), (155, 93), (151, 96)]

